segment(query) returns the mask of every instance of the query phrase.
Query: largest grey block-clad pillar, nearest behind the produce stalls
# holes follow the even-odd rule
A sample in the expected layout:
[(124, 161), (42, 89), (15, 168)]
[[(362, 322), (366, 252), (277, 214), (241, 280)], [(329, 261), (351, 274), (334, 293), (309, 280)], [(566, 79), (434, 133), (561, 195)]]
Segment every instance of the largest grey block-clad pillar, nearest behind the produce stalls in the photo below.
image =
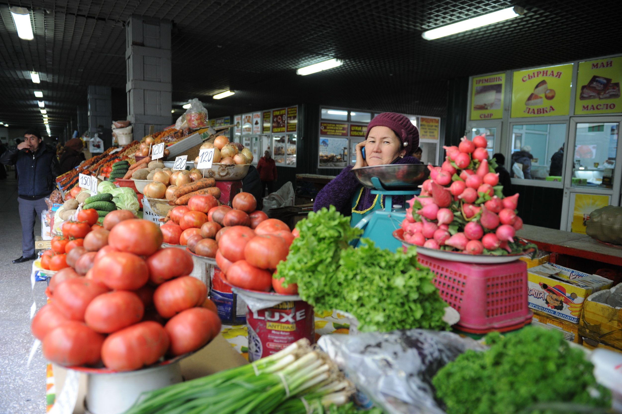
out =
[(170, 22), (131, 17), (126, 26), (126, 92), (134, 139), (170, 126)]

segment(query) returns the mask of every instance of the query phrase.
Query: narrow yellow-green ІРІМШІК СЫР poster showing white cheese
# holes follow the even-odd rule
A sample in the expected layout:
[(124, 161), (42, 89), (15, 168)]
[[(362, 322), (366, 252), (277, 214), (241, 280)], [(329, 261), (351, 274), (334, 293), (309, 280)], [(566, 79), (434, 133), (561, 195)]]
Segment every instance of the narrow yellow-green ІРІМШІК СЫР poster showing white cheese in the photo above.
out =
[(503, 118), (505, 73), (473, 78), (471, 121)]

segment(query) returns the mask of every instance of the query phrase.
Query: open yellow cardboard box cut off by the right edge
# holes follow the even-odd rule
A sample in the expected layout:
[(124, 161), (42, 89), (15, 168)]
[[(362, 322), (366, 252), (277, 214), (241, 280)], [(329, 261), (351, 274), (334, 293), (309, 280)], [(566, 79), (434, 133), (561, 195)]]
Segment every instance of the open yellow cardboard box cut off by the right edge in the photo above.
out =
[(592, 344), (622, 349), (622, 283), (587, 298), (579, 334), (593, 341)]

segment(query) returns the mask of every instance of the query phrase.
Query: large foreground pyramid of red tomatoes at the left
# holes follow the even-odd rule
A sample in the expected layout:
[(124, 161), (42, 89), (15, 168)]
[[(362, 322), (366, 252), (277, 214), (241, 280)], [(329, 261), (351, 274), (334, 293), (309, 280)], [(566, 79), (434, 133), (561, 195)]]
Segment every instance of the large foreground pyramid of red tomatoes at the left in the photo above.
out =
[(66, 253), (68, 267), (50, 280), (51, 301), (31, 324), (48, 361), (136, 370), (220, 333), (207, 287), (188, 276), (192, 256), (162, 249), (162, 239), (157, 224), (117, 210)]

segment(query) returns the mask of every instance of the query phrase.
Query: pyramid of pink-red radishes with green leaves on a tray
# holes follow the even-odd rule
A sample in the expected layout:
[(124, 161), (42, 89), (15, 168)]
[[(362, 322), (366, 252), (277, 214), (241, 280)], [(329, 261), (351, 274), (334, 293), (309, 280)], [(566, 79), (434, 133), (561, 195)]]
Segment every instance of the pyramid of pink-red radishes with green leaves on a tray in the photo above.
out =
[(468, 254), (523, 252), (516, 239), (522, 219), (516, 215), (518, 194), (503, 197), (496, 162), (488, 162), (484, 136), (462, 138), (458, 147), (443, 147), (441, 167), (432, 167), (419, 196), (407, 201), (402, 221), (404, 240), (416, 246)]

